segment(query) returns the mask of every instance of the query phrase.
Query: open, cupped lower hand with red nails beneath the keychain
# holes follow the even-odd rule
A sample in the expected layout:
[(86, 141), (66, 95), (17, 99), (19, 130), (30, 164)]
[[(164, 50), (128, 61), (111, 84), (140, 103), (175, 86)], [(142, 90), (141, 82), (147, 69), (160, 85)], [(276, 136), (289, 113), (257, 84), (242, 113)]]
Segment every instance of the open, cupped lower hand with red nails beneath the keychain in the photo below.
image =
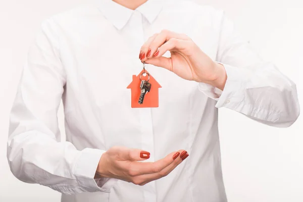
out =
[(144, 185), (167, 176), (188, 154), (179, 150), (156, 162), (141, 162), (150, 154), (140, 149), (114, 146), (100, 158), (95, 178), (107, 177)]

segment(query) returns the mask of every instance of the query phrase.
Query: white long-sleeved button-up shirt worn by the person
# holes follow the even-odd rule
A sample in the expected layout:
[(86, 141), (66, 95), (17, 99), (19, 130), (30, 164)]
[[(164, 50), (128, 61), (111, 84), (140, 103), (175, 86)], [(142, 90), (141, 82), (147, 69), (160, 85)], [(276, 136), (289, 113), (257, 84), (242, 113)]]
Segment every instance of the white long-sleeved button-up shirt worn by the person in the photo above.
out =
[[(140, 47), (163, 29), (187, 34), (225, 66), (223, 92), (147, 65), (162, 86), (159, 108), (131, 108), (127, 86), (142, 70)], [(65, 142), (57, 120), (61, 99)], [(290, 126), (299, 114), (295, 84), (254, 53), (222, 11), (158, 0), (133, 11), (97, 0), (41, 24), (11, 112), (10, 167), (24, 182), (62, 192), (62, 201), (224, 202), (221, 107), (276, 127)], [(189, 157), (144, 186), (94, 180), (100, 157), (114, 145), (147, 150), (152, 162), (178, 149)]]

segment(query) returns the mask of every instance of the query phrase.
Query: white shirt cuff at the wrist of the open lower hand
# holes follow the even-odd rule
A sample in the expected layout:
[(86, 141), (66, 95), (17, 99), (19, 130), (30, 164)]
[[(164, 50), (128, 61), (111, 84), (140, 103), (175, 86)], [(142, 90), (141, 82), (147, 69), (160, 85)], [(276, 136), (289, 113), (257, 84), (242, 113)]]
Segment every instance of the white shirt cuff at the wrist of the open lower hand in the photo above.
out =
[(86, 192), (110, 192), (110, 189), (118, 181), (118, 179), (114, 178), (94, 179), (99, 160), (103, 153), (105, 153), (105, 150), (85, 148), (81, 151), (75, 164), (74, 174), (78, 183)]

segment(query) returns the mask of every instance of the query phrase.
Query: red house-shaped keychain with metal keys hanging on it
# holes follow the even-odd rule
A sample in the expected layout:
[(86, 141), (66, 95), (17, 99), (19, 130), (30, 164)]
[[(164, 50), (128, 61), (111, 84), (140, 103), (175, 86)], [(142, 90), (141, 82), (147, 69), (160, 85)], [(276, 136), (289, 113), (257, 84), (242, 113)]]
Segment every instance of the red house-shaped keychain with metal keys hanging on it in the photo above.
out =
[(157, 108), (159, 107), (159, 88), (161, 85), (145, 70), (132, 76), (132, 82), (127, 86), (131, 89), (132, 108)]

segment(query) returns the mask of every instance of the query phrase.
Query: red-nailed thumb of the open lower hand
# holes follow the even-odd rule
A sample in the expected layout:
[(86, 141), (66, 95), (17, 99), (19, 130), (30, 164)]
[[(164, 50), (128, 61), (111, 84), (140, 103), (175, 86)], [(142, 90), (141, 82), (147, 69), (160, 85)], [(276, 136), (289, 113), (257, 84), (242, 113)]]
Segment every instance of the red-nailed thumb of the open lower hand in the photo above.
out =
[(144, 161), (149, 159), (150, 153), (141, 149), (121, 147), (118, 157), (122, 161)]

